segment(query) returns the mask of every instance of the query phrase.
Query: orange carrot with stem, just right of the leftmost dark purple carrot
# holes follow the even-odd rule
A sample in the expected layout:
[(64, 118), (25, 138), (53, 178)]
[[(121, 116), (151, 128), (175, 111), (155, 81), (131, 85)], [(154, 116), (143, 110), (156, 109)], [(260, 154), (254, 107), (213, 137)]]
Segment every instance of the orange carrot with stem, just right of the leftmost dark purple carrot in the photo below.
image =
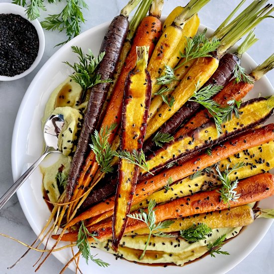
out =
[[(136, 62), (136, 58), (137, 58), (136, 46), (142, 45), (142, 43), (144, 43), (143, 45), (149, 46), (149, 54), (151, 56), (151, 53), (154, 48), (153, 39), (157, 40), (158, 36), (160, 35), (161, 22), (157, 18), (157, 16), (160, 16), (160, 12), (161, 12), (161, 8), (162, 8), (162, 0), (155, 0), (155, 2), (157, 3), (157, 6), (155, 7), (155, 5), (153, 5), (153, 8), (152, 8), (152, 5), (151, 5), (151, 8), (150, 8), (150, 13), (152, 12), (153, 15), (146, 16), (144, 18), (145, 14), (150, 6), (151, 1), (152, 0), (149, 0), (149, 1), (142, 0), (141, 4), (139, 5), (139, 7), (137, 9), (136, 14), (134, 15), (134, 17), (130, 23), (129, 33), (127, 35), (127, 39), (126, 39), (126, 42), (123, 47), (123, 52), (121, 54), (125, 57), (128, 54), (128, 51), (131, 49), (132, 39), (136, 32), (135, 30), (138, 27), (138, 30), (136, 33), (137, 35), (135, 36), (134, 41), (133, 41), (133, 47), (132, 47), (133, 50), (129, 51), (127, 59), (126, 60), (124, 59), (122, 61), (123, 66), (122, 66), (122, 71), (118, 77), (119, 79), (117, 79), (118, 84), (115, 86), (112, 86), (114, 88), (113, 95), (111, 97), (110, 102), (108, 102), (108, 104), (106, 106), (106, 113), (104, 114), (104, 116), (102, 116), (102, 117), (104, 117), (103, 122), (99, 124), (99, 126), (101, 125), (101, 128), (110, 127), (113, 123), (117, 123), (117, 125), (119, 125), (121, 122), (122, 99), (123, 99), (125, 80), (126, 80), (126, 77), (127, 77), (127, 74), (129, 73), (129, 71), (131, 69), (133, 69), (135, 66), (135, 62)], [(140, 21), (141, 21), (141, 23), (139, 24)], [(149, 28), (149, 30), (150, 30), (152, 26), (154, 26), (153, 29), (157, 30), (157, 33), (155, 33), (155, 32), (152, 33), (151, 31), (150, 32), (146, 31), (145, 34), (142, 35), (144, 33), (145, 29)], [(117, 113), (117, 111), (118, 111), (118, 113)], [(119, 127), (116, 127), (112, 131), (112, 133), (109, 137), (110, 142), (112, 141), (113, 137), (115, 136), (118, 128)], [(98, 171), (98, 169), (99, 169), (99, 165), (95, 160), (95, 154), (93, 151), (90, 151), (89, 155), (87, 156), (87, 158), (85, 160), (83, 170), (80, 173), (80, 177), (78, 179), (78, 185), (75, 186), (75, 189), (74, 189), (75, 195), (73, 197), (74, 199), (76, 197), (83, 195), (83, 193), (85, 193), (90, 182), (93, 181), (94, 176), (95, 176), (96, 172)], [(81, 187), (79, 187), (79, 185)], [(70, 212), (75, 209), (76, 205), (79, 206), (84, 200), (85, 200), (85, 197), (83, 197), (80, 202), (75, 202), (75, 203), (71, 204), (67, 211), (67, 216), (69, 217)]]

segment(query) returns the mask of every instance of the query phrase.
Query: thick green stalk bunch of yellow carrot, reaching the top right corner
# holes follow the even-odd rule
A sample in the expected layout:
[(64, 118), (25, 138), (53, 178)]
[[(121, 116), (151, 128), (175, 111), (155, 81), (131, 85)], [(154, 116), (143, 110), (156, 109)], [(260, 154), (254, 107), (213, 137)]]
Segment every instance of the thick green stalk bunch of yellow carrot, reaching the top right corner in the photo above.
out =
[(263, 19), (272, 17), (269, 16), (269, 14), (274, 10), (272, 5), (268, 4), (261, 8), (262, 2), (264, 1), (259, 1), (256, 5), (252, 4), (253, 8), (251, 9), (248, 7), (248, 14), (242, 16), (237, 23), (235, 23), (235, 25), (221, 38), (221, 45), (217, 49), (217, 56), (219, 58), (222, 57), (229, 48), (231, 48), (239, 39), (241, 39), (241, 37), (252, 30)]

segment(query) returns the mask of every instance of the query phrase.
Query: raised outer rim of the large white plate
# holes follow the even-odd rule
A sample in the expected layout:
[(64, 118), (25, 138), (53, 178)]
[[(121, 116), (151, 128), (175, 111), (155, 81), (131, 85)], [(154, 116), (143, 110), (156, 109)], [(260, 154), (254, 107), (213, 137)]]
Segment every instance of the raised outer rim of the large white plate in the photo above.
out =
[[(164, 20), (166, 18), (166, 15), (162, 15), (161, 16), (161, 20)], [(56, 57), (58, 57), (59, 53), (67, 47), (70, 47), (71, 45), (73, 45), (74, 43), (77, 43), (78, 40), (80, 40), (83, 36), (89, 35), (89, 33), (95, 32), (97, 30), (100, 30), (104, 27), (107, 27), (110, 24), (111, 21), (107, 21), (104, 23), (101, 23), (99, 25), (96, 25), (84, 32), (82, 32), (81, 34), (79, 34), (78, 36), (74, 37), (72, 40), (70, 40), (69, 42), (67, 42), (65, 45), (63, 45), (62, 47), (60, 47), (44, 64), (43, 66), (39, 69), (39, 71), (37, 72), (37, 74), (35, 75), (35, 77), (33, 78), (33, 80), (31, 81), (30, 85), (28, 86), (23, 99), (20, 103), (20, 106), (18, 108), (18, 112), (16, 115), (16, 119), (15, 119), (15, 123), (14, 123), (14, 127), (13, 127), (13, 132), (12, 132), (12, 140), (11, 140), (11, 169), (12, 169), (12, 177), (13, 180), (15, 181), (17, 179), (17, 177), (19, 177), (21, 175), (22, 172), (20, 172), (20, 168), (23, 168), (23, 166), (18, 167), (18, 162), (16, 159), (16, 148), (17, 148), (17, 139), (19, 138), (19, 125), (21, 122), (21, 114), (24, 111), (24, 108), (27, 106), (26, 102), (29, 99), (29, 97), (31, 96), (32, 92), (33, 92), (33, 86), (35, 86), (36, 82), (39, 80), (39, 78), (42, 76), (44, 70), (47, 70), (47, 68), (51, 65), (52, 62), (54, 62), (54, 59)], [(207, 27), (204, 24), (200, 24), (199, 28), (207, 28), (208, 31), (214, 31), (212, 28)], [(253, 62), (254, 65), (258, 65), (254, 59), (248, 54), (248, 53), (244, 53), (249, 61)], [(271, 82), (269, 81), (269, 79), (267, 78), (266, 75), (264, 75), (262, 78), (264, 78), (264, 80), (266, 81), (266, 83), (272, 87), (273, 86), (271, 84)], [(41, 92), (40, 92), (41, 93)], [(20, 206), (23, 210), (23, 213), (31, 227), (31, 229), (33, 230), (33, 232), (38, 236), (40, 233), (40, 229), (34, 225), (33, 219), (30, 216), (30, 212), (29, 209), (27, 207), (27, 203), (23, 197), (23, 191), (21, 189), (18, 189), (17, 192), (17, 197), (20, 203)], [(264, 232), (261, 232), (259, 239), (254, 240), (251, 245), (249, 247), (247, 247), (245, 249), (245, 251), (241, 254), (241, 256), (238, 256), (237, 259), (234, 259), (228, 266), (223, 266), (222, 267), (222, 271), (218, 271), (216, 270), (216, 274), (217, 273), (227, 273), (228, 271), (232, 270), (234, 267), (236, 267), (238, 264), (240, 264), (250, 253), (253, 252), (253, 250), (259, 245), (259, 243), (262, 241), (262, 239), (265, 237), (265, 235), (267, 234), (267, 232), (269, 231), (270, 227), (272, 226), (274, 220), (269, 220), (268, 223), (264, 224)], [(66, 264), (65, 258), (63, 258), (61, 255), (58, 254), (58, 252), (54, 252), (53, 253), (54, 257), (61, 262), (62, 264)], [(134, 264), (133, 264), (134, 265)], [(74, 268), (72, 268), (72, 264), (70, 264), (69, 268), (71, 270), (74, 270)]]

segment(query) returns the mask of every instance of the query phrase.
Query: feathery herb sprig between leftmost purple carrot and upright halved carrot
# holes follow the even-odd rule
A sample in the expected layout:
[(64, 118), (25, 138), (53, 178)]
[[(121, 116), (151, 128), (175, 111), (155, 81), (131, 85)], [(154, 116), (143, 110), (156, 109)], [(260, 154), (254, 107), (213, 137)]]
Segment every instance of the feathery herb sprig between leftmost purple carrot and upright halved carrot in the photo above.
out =
[(94, 135), (91, 137), (92, 144), (90, 144), (90, 147), (95, 153), (97, 163), (101, 166), (101, 171), (105, 173), (113, 171), (111, 160), (115, 153), (111, 149), (108, 138), (116, 127), (117, 124), (112, 124), (106, 128), (102, 127), (100, 133), (95, 130)]

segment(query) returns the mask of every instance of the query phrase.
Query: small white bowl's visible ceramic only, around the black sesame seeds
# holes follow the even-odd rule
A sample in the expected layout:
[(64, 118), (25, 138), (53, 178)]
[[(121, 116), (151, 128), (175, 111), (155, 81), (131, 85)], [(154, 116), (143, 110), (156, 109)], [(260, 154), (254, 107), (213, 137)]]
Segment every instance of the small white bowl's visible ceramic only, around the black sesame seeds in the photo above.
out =
[(24, 72), (14, 75), (12, 77), (9, 76), (3, 76), (0, 75), (0, 81), (12, 81), (12, 80), (17, 80), (20, 79), (27, 74), (29, 74), (31, 71), (35, 69), (35, 67), (39, 64), (41, 61), (41, 58), (44, 53), (45, 49), (45, 35), (43, 32), (43, 28), (41, 27), (41, 24), (37, 19), (30, 21), (27, 16), (25, 15), (25, 7), (22, 7), (20, 5), (12, 4), (12, 3), (0, 3), (0, 13), (13, 13), (13, 14), (18, 14), (21, 15), (23, 18), (27, 19), (36, 29), (37, 34), (38, 34), (38, 39), (39, 39), (39, 49), (38, 49), (38, 54), (36, 59), (34, 60), (33, 64)]

